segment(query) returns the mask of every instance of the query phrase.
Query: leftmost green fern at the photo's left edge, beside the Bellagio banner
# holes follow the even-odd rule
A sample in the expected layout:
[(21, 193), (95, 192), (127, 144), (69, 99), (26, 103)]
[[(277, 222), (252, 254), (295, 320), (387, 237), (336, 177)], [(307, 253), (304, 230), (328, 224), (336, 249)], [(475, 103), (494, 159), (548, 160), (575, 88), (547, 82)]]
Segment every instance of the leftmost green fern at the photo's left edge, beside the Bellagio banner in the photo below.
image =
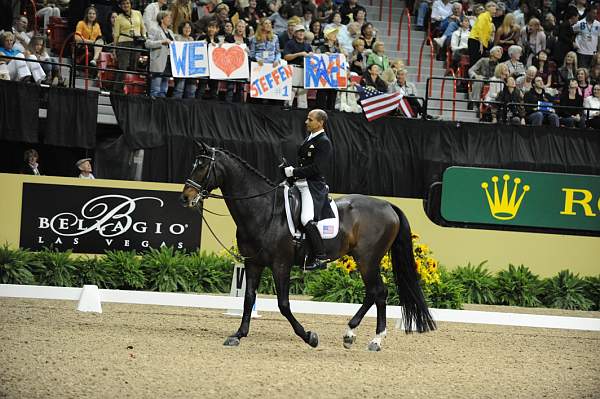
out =
[(8, 243), (0, 247), (0, 284), (34, 284), (31, 269), (38, 270), (33, 254), (23, 249), (11, 249)]

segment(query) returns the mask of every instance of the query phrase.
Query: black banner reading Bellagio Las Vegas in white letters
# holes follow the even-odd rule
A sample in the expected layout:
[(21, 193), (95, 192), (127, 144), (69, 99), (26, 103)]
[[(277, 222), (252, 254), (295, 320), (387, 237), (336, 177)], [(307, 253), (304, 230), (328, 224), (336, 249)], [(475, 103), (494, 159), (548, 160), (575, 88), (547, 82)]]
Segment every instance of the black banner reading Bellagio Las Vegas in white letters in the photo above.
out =
[(180, 193), (54, 184), (23, 184), (20, 246), (80, 253), (196, 250), (201, 218)]

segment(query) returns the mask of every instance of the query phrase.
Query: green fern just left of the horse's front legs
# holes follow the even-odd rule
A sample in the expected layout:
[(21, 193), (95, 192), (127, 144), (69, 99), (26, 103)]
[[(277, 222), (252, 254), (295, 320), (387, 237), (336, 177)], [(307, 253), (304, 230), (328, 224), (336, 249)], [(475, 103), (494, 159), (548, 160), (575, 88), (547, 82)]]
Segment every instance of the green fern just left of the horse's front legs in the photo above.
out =
[(228, 293), (231, 286), (233, 262), (216, 254), (204, 251), (186, 256), (190, 271), (188, 286), (194, 292)]

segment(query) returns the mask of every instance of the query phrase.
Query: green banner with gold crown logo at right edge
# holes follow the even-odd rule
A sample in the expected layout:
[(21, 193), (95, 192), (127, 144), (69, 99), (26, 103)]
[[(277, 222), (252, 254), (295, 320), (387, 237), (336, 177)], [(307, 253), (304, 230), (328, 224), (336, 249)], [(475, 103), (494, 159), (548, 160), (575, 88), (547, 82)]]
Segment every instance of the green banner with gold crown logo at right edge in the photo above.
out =
[(451, 167), (448, 221), (600, 232), (600, 176)]

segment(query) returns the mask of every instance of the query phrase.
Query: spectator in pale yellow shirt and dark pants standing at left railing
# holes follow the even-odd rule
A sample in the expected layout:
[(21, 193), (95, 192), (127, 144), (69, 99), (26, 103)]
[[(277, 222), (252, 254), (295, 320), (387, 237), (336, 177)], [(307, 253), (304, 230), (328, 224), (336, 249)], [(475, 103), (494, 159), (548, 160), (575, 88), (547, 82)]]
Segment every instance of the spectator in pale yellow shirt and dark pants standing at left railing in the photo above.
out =
[[(142, 48), (146, 42), (146, 28), (142, 13), (131, 8), (130, 0), (120, 0), (121, 13), (115, 21), (113, 32), (114, 43), (120, 47)], [(121, 70), (135, 69), (139, 57), (138, 52), (118, 50), (117, 63)], [(123, 82), (123, 73), (117, 74), (117, 82)], [(116, 90), (123, 90), (123, 84), (117, 83)]]

